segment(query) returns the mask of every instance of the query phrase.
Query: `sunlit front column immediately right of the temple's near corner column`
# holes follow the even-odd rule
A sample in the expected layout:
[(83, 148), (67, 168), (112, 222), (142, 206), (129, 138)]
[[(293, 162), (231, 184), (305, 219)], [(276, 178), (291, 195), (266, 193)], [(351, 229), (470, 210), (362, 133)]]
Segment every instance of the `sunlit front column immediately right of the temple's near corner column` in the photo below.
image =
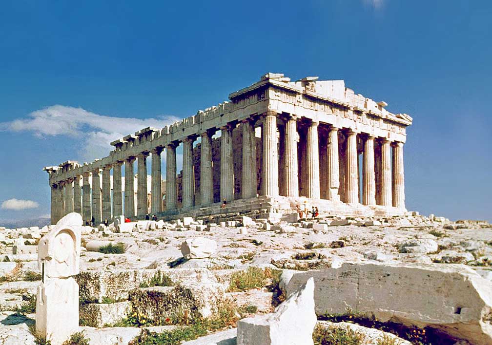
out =
[(297, 118), (291, 115), (285, 122), (284, 160), (285, 166), (285, 195), (299, 196), (299, 168), (297, 161)]

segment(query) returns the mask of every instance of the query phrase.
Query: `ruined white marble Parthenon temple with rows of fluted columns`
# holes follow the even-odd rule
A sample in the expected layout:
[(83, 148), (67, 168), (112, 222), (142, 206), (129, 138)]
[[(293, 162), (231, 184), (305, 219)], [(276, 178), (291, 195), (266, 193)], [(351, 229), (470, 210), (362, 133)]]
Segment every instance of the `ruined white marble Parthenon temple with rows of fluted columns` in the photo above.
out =
[[(70, 212), (96, 222), (149, 213), (292, 213), (305, 202), (343, 215), (406, 212), (403, 144), (409, 115), (388, 112), (386, 102), (356, 94), (343, 80), (291, 82), (277, 73), (231, 93), (229, 100), (116, 140), (107, 157), (92, 163), (45, 167), (52, 223)], [(132, 178), (122, 178), (123, 165), (124, 176)]]

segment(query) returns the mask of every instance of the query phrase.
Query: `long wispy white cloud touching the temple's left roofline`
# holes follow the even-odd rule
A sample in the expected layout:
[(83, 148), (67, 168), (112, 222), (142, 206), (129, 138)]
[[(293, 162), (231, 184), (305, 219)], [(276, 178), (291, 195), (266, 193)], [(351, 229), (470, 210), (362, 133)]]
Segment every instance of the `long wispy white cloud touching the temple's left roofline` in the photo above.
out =
[(27, 131), (37, 137), (68, 136), (81, 141), (80, 158), (92, 161), (107, 156), (113, 148), (109, 143), (116, 139), (145, 127), (162, 128), (178, 119), (175, 116), (145, 119), (106, 116), (82, 108), (54, 105), (36, 110), (26, 118), (0, 122), (0, 131)]

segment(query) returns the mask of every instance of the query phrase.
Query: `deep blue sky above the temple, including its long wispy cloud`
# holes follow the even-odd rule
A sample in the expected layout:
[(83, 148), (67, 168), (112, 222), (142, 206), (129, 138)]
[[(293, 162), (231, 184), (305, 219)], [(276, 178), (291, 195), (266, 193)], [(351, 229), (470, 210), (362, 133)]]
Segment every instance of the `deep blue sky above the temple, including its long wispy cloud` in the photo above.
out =
[(271, 71), (411, 115), (407, 208), (492, 221), (490, 18), (478, 0), (1, 1), (0, 202), (34, 204), (0, 220), (49, 213), (43, 166), (106, 155)]

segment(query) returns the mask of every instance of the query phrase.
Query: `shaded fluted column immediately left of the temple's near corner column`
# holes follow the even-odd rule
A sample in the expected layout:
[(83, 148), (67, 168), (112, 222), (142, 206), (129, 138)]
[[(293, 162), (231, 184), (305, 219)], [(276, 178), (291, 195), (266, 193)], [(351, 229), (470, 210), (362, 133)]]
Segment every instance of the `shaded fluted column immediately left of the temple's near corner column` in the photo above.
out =
[(243, 120), (243, 170), (241, 198), (256, 198), (256, 136), (254, 122)]

